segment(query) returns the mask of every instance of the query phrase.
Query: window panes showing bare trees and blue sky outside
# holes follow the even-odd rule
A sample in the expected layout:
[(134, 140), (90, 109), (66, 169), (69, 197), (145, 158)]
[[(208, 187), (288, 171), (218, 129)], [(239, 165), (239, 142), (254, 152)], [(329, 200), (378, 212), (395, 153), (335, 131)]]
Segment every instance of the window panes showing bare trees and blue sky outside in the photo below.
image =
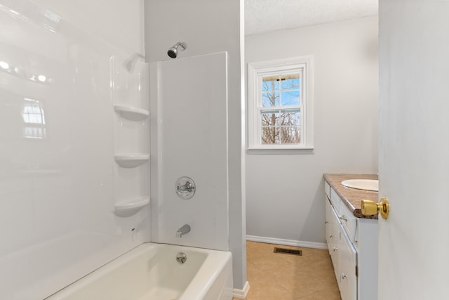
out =
[(300, 74), (262, 77), (262, 144), (301, 143), (299, 105)]

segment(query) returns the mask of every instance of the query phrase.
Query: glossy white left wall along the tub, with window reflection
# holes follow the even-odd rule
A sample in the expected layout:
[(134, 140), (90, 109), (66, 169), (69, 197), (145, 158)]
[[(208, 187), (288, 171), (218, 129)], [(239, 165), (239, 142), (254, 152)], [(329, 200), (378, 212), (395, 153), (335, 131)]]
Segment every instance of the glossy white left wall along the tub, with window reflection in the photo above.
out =
[[(142, 1), (91, 3), (0, 1), (9, 65), (0, 69), (0, 299), (43, 299), (149, 240), (149, 209), (113, 213), (149, 194), (148, 164), (123, 171), (114, 162), (117, 150), (149, 150), (148, 140), (123, 145), (136, 124), (113, 107), (149, 109), (138, 90), (145, 64), (132, 74), (122, 65), (143, 51)], [(135, 139), (148, 136), (147, 123)]]

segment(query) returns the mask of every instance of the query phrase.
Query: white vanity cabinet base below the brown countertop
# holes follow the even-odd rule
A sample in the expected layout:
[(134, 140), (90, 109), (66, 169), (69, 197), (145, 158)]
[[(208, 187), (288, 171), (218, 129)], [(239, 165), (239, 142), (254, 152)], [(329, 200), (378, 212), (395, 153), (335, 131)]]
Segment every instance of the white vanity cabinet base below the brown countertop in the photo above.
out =
[(377, 299), (377, 219), (357, 218), (325, 181), (326, 242), (342, 300)]

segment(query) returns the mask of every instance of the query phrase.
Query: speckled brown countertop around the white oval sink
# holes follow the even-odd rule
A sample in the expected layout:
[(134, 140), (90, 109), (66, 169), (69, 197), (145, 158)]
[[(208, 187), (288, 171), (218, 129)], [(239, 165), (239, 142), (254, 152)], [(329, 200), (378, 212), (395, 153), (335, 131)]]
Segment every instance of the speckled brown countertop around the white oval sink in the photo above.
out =
[(357, 218), (377, 219), (377, 214), (373, 216), (363, 216), (360, 202), (361, 200), (373, 200), (377, 202), (378, 193), (371, 190), (358, 190), (347, 188), (342, 185), (342, 181), (348, 179), (377, 179), (373, 174), (324, 174), (324, 180), (335, 190), (335, 193), (342, 199), (347, 208), (353, 212)]

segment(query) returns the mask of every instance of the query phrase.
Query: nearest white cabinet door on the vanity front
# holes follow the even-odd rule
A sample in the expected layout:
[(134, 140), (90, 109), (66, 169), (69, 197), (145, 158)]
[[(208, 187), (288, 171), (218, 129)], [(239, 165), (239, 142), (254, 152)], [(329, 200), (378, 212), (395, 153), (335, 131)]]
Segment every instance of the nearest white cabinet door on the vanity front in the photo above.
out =
[(342, 300), (357, 299), (357, 252), (349, 242), (349, 237), (341, 228), (342, 241), (340, 244), (340, 293)]

